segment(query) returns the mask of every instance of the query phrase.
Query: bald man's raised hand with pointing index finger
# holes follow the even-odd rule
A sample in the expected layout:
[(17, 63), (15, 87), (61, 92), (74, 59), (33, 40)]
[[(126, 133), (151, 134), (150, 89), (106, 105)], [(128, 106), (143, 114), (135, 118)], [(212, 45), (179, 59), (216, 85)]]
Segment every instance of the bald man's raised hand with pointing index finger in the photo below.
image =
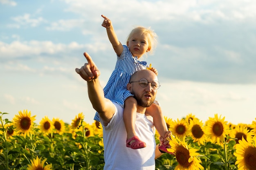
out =
[(96, 79), (100, 75), (95, 63), (88, 53), (83, 53), (88, 63), (85, 63), (80, 69), (76, 68), (76, 73), (78, 73), (85, 81), (90, 82), (92, 79)]

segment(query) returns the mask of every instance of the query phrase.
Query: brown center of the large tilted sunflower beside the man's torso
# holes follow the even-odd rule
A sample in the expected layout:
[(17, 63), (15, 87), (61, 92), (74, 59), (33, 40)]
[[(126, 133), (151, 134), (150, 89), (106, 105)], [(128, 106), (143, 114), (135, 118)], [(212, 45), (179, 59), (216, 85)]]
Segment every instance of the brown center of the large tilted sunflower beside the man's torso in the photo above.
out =
[(192, 162), (189, 162), (189, 150), (187, 150), (186, 148), (184, 148), (183, 146), (178, 146), (176, 148), (176, 159), (177, 162), (183, 166), (183, 167), (189, 167)]

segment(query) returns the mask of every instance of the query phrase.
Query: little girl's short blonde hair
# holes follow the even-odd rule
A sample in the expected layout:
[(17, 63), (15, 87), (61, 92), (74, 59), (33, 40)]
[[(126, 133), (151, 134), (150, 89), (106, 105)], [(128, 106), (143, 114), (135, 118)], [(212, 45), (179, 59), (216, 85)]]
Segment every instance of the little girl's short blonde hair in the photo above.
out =
[(126, 44), (128, 44), (130, 38), (134, 33), (141, 33), (141, 35), (146, 35), (148, 38), (148, 48), (150, 49), (150, 54), (152, 55), (154, 53), (154, 49), (157, 46), (157, 34), (154, 30), (151, 30), (150, 27), (145, 28), (143, 26), (137, 26), (129, 33)]

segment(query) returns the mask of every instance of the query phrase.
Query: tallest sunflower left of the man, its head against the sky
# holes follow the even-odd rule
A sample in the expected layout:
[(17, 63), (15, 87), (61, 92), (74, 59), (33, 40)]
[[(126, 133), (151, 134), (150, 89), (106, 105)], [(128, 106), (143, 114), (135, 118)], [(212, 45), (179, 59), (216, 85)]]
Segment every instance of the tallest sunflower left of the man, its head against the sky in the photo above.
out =
[(31, 117), (31, 113), (27, 113), (27, 110), (20, 110), (19, 115), (15, 115), (13, 118), (13, 124), (16, 128), (17, 132), (24, 133), (24, 136), (30, 136), (30, 133), (32, 132), (34, 121), (36, 116)]

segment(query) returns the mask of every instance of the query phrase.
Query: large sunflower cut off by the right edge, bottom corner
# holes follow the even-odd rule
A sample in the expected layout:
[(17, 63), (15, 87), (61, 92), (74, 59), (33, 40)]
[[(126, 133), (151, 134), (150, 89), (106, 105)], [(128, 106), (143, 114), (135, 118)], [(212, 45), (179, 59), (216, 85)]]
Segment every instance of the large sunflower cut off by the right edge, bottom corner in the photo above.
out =
[(236, 144), (236, 165), (238, 170), (255, 170), (256, 167), (256, 147), (255, 144), (247, 142), (244, 138)]

